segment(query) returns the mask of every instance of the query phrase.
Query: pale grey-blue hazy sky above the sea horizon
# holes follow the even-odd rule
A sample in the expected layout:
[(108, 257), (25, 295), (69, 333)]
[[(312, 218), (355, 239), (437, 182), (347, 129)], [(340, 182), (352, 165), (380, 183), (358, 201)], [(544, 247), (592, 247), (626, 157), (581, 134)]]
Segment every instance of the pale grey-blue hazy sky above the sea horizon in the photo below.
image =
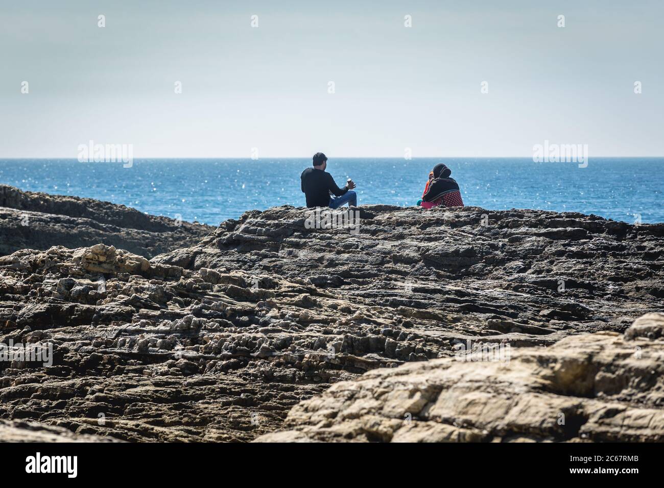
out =
[(661, 0), (3, 1), (0, 158), (76, 158), (90, 139), (135, 158), (531, 156), (544, 140), (663, 156), (663, 14)]

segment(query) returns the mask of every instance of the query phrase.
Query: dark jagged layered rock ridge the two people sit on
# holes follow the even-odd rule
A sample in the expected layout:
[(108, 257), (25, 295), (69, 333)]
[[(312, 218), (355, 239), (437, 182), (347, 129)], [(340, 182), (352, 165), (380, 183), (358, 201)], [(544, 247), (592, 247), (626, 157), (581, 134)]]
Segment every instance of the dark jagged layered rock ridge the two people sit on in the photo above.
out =
[[(150, 261), (106, 245), (1, 257), (0, 342), (50, 343), (54, 351), (46, 367), (0, 362), (0, 417), (130, 441), (248, 441), (282, 428), (293, 406), (299, 411), (341, 381), (463, 365), (454, 359), (461, 345), (509, 345), (514, 365), (528, 357), (564, 363), (564, 344), (581, 357), (578, 341), (597, 343), (598, 354), (623, 351), (633, 320), (662, 311), (661, 224), (468, 207), (359, 212), (357, 234), (307, 229), (303, 209), (247, 212)], [(644, 346), (644, 357), (657, 347)], [(480, 379), (499, 365), (465, 367)], [(612, 378), (604, 391), (622, 391), (625, 377)], [(544, 395), (537, 381), (523, 366), (523, 389), (503, 385), (503, 393)], [(536, 440), (570, 438), (581, 424), (581, 400), (575, 410), (568, 398), (552, 398), (568, 412), (568, 427), (544, 429), (546, 436), (525, 429)], [(643, 408), (655, 408), (653, 398)], [(523, 401), (496, 409), (528, 410)], [(485, 427), (443, 428), (451, 438), (503, 436), (490, 430), (488, 410)]]

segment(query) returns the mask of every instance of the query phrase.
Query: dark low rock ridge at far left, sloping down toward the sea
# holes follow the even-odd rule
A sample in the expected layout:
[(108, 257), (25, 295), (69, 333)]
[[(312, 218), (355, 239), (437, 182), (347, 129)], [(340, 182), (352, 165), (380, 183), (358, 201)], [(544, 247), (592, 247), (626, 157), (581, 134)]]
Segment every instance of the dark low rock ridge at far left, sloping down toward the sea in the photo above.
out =
[(0, 255), (112, 245), (147, 258), (197, 243), (214, 228), (90, 198), (23, 192), (0, 185)]

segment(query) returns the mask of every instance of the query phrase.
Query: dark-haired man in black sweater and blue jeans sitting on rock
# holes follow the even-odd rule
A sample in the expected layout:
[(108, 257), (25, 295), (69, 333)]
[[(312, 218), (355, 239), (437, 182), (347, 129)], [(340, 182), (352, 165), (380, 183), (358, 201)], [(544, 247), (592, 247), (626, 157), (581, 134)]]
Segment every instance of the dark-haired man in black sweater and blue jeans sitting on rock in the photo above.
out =
[(339, 188), (332, 175), (325, 172), (325, 168), (327, 156), (323, 153), (313, 154), (313, 168), (305, 169), (299, 177), (302, 180), (302, 192), (307, 198), (307, 207), (339, 208), (344, 204), (349, 207), (357, 206), (353, 180), (349, 178), (346, 186)]

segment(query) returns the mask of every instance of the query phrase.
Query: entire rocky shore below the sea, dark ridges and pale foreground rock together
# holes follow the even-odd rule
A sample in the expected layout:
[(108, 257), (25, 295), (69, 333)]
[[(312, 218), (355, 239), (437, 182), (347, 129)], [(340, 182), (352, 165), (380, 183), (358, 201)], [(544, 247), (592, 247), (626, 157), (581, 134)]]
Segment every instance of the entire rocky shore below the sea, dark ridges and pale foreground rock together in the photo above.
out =
[[(664, 224), (361, 206), (351, 232), (284, 206), (173, 228), (28, 200), (100, 233), (46, 247), (3, 218), (0, 343), (52, 353), (0, 361), (0, 440), (664, 440)], [(130, 227), (163, 240), (115, 245)]]

